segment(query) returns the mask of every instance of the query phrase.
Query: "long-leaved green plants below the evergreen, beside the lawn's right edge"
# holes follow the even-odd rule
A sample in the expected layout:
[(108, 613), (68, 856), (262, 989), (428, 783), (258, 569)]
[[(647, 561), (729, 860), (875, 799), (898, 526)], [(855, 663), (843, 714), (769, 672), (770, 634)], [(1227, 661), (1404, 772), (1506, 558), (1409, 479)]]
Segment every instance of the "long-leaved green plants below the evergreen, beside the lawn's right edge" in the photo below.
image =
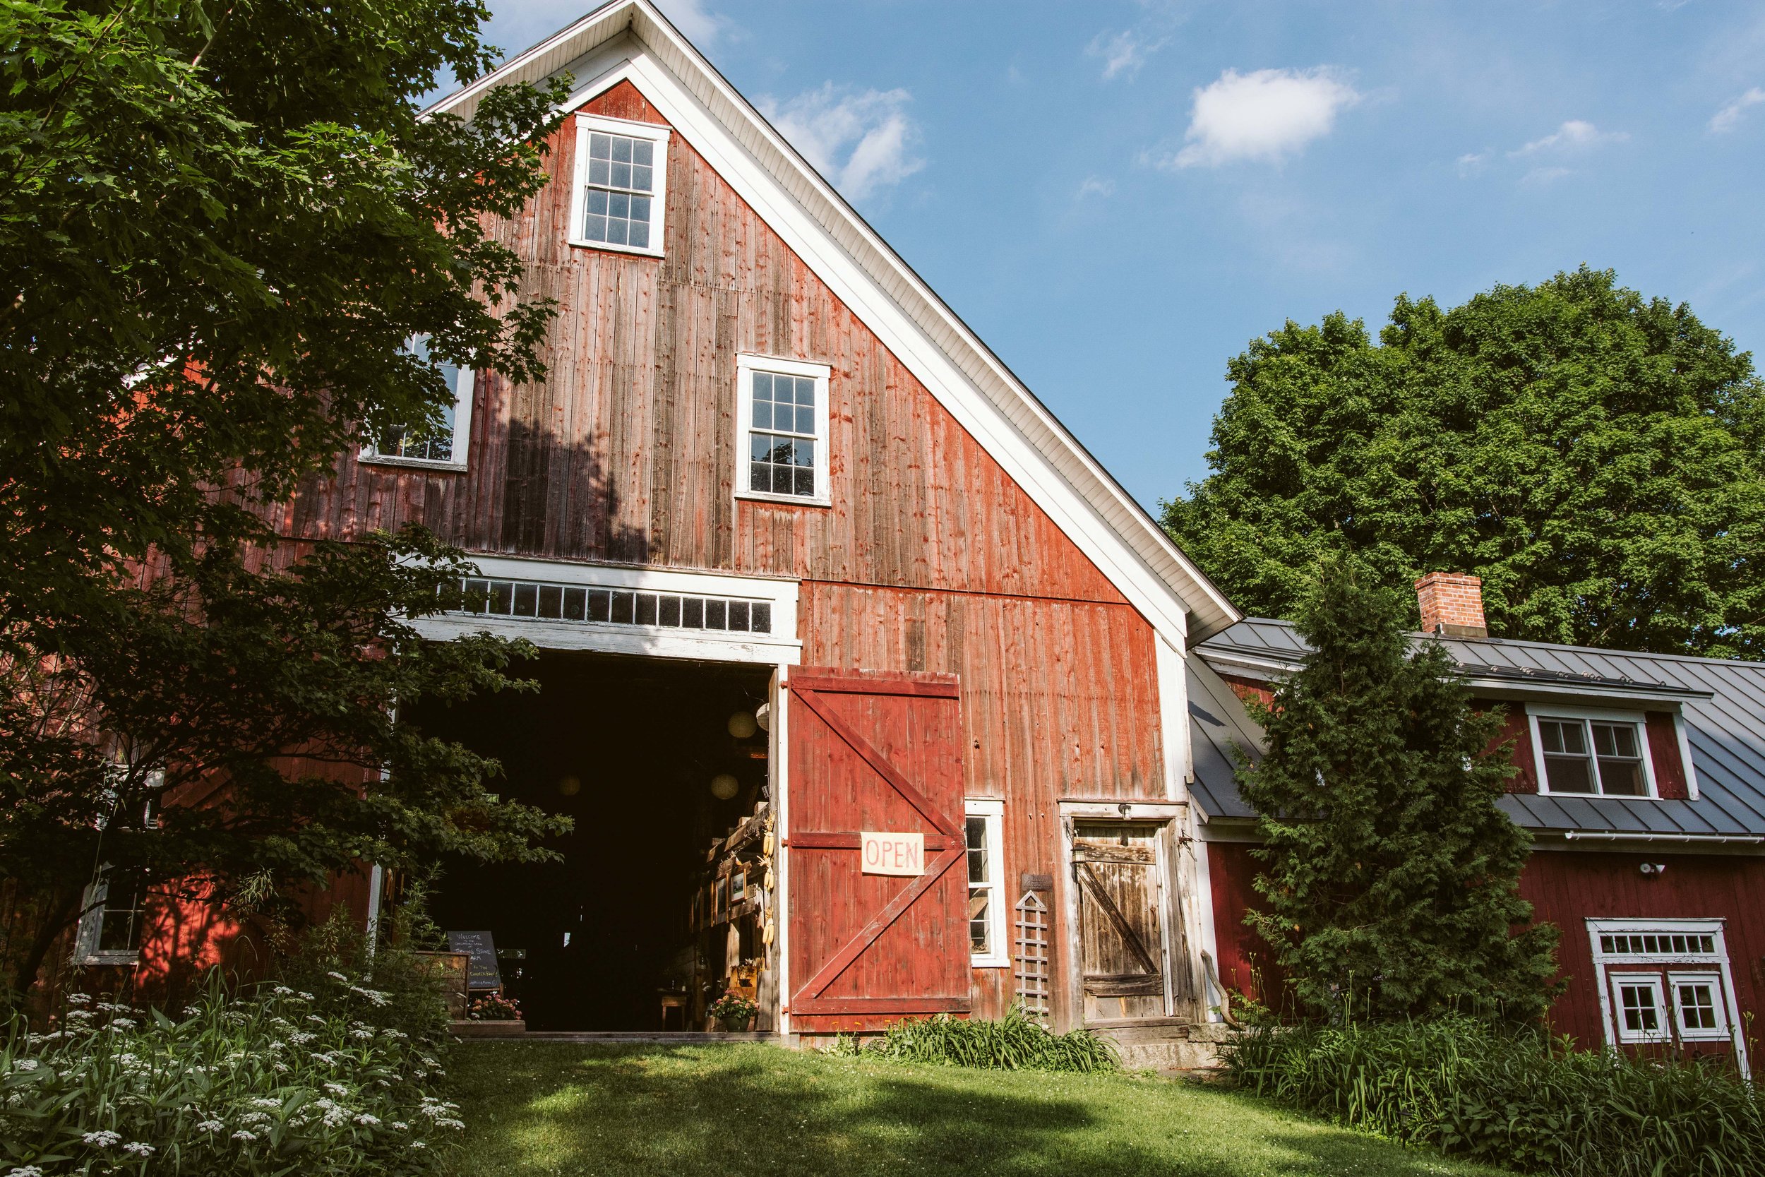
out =
[(1523, 1172), (1765, 1173), (1765, 1096), (1716, 1059), (1571, 1050), (1451, 1015), (1257, 1027), (1225, 1066), (1290, 1106)]

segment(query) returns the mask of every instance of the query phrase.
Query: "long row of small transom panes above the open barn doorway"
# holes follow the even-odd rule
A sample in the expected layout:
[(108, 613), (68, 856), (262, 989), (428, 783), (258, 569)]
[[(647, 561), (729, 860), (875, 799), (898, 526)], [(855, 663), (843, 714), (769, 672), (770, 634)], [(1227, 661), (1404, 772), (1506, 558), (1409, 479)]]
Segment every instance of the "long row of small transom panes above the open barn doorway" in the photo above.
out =
[(694, 593), (542, 584), (473, 577), (459, 612), (552, 621), (604, 621), (664, 630), (771, 633), (771, 602)]

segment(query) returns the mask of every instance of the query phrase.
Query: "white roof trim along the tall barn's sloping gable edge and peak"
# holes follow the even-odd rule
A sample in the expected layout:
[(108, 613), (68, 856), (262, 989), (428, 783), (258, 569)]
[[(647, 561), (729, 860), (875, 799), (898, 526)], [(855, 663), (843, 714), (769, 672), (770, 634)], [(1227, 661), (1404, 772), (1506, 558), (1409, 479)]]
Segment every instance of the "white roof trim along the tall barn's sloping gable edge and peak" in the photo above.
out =
[[(612, 0), (429, 109), (469, 118), (489, 88), (537, 83), (567, 67), (577, 83), (572, 108), (634, 79), (1167, 639), (1186, 646), (1243, 618), (650, 0)], [(771, 184), (761, 185), (761, 176)]]

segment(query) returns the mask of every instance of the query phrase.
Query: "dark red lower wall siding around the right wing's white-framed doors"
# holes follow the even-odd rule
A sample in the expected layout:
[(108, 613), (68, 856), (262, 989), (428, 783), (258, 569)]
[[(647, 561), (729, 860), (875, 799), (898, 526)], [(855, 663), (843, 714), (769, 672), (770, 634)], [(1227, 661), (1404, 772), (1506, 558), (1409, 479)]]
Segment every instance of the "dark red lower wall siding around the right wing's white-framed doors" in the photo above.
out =
[[(1643, 875), (1643, 863), (1664, 863)], [(1710, 919), (1724, 923), (1728, 963), (1742, 1016), (1765, 1013), (1765, 859), (1641, 851), (1601, 854), (1536, 851), (1520, 877), (1534, 919), (1562, 928), (1557, 948), (1569, 988), (1551, 1013), (1558, 1032), (1583, 1046), (1604, 1041), (1585, 919)]]

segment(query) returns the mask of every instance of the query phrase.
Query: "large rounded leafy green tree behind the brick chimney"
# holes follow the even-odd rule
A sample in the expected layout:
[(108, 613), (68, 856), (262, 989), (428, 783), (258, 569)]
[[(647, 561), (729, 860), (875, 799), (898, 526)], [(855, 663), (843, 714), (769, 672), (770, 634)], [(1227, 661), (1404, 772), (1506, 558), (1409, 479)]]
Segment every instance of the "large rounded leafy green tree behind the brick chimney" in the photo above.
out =
[(1292, 616), (1345, 552), (1484, 581), (1490, 632), (1765, 656), (1765, 386), (1686, 305), (1611, 272), (1400, 296), (1234, 358), (1213, 473), (1165, 526), (1244, 609)]

